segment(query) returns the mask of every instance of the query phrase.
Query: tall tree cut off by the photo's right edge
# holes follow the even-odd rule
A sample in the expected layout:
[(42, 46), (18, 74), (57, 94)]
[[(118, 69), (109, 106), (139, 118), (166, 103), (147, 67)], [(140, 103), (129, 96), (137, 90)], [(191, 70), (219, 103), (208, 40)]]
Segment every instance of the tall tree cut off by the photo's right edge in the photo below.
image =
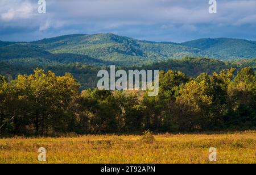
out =
[(243, 68), (228, 87), (228, 124), (233, 128), (256, 127), (256, 76), (252, 68)]

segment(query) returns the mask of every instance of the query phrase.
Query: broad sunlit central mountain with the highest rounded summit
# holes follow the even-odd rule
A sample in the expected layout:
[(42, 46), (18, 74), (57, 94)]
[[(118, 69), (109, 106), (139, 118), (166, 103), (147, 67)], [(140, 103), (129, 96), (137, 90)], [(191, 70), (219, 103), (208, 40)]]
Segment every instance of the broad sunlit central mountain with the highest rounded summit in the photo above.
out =
[(141, 41), (114, 34), (68, 35), (33, 42), (52, 53), (88, 55), (124, 65), (147, 64), (170, 57), (200, 56), (199, 49), (175, 43)]

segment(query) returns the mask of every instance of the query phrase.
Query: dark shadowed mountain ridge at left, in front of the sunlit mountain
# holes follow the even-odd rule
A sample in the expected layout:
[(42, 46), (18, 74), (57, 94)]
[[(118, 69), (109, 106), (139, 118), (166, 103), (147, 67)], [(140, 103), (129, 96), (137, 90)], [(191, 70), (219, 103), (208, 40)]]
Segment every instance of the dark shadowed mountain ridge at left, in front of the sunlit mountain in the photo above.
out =
[(79, 62), (89, 65), (109, 65), (114, 64), (86, 55), (76, 55), (72, 53), (50, 53), (36, 45), (30, 43), (10, 44), (0, 47), (0, 61), (22, 65), (44, 65), (44, 64), (69, 64)]

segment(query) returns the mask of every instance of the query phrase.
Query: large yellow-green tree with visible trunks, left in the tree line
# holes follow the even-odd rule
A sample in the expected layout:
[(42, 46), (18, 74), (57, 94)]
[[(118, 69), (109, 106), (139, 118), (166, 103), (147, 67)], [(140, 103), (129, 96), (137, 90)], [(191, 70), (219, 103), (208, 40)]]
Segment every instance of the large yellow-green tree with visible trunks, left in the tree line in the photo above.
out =
[(67, 122), (60, 116), (65, 114), (69, 103), (77, 96), (79, 84), (71, 74), (56, 77), (51, 71), (44, 73), (42, 69), (36, 69), (30, 76), (18, 76), (15, 88), (19, 99), (26, 100), (30, 106), (35, 134), (38, 135), (41, 128), (43, 136), (46, 128), (60, 130), (58, 126)]

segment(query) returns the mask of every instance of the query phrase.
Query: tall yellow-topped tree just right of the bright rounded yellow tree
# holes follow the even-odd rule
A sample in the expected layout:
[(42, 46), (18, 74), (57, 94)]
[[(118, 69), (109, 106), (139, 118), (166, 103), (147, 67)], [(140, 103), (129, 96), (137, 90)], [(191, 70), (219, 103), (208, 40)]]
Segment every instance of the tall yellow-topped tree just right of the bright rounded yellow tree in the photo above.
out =
[(233, 78), (235, 69), (221, 70), (219, 74), (206, 73), (196, 78), (197, 82), (204, 82), (206, 94), (212, 98), (212, 105), (204, 107), (201, 113), (201, 127), (204, 130), (212, 130), (224, 127), (225, 116), (228, 113), (228, 86)]

